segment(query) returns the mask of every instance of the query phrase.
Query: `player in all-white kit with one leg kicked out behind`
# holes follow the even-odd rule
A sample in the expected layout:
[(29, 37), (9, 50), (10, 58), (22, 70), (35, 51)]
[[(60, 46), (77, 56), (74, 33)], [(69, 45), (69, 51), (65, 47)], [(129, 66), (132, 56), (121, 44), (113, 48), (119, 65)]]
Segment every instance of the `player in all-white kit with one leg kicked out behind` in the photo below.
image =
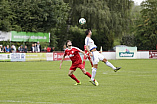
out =
[(107, 61), (106, 58), (104, 58), (102, 54), (100, 54), (96, 50), (97, 46), (94, 44), (94, 41), (91, 39), (92, 31), (90, 29), (87, 29), (85, 31), (85, 34), (86, 34), (86, 38), (85, 38), (86, 49), (92, 56), (92, 61), (93, 61), (91, 82), (92, 84), (96, 85), (94, 78), (98, 68), (99, 60), (104, 62), (107, 66), (111, 67), (115, 72), (117, 72), (121, 67), (114, 67), (110, 62)]

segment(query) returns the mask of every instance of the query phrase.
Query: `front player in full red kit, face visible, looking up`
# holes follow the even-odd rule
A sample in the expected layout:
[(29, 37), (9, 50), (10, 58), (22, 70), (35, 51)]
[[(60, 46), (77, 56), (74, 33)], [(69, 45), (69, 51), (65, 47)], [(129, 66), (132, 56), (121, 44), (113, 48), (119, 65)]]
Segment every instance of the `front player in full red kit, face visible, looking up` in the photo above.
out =
[[(60, 63), (60, 69), (61, 69), (62, 62), (63, 62), (65, 56), (69, 56), (69, 58), (72, 61), (72, 65), (69, 69), (68, 75), (77, 82), (75, 85), (81, 85), (81, 82), (75, 77), (75, 75), (73, 73), (75, 72), (76, 68), (80, 68), (85, 75), (87, 75), (89, 78), (91, 78), (91, 74), (85, 70), (84, 65), (82, 64), (82, 60), (81, 60), (79, 52), (83, 53), (84, 55), (86, 55), (86, 54), (79, 48), (73, 47), (72, 42), (70, 40), (67, 41), (67, 46), (68, 46), (68, 48), (65, 50), (64, 56)], [(96, 85), (98, 85), (98, 82), (96, 80), (95, 80), (95, 82), (96, 82)]]

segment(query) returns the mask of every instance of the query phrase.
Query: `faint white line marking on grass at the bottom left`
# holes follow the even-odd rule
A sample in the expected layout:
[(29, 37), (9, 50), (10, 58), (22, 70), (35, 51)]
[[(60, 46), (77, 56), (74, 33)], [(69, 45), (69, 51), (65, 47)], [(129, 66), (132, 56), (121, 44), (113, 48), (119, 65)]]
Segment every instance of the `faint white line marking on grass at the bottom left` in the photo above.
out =
[(32, 102), (32, 101), (14, 101), (14, 100), (0, 100), (0, 102), (2, 102), (2, 103), (71, 104), (71, 103)]

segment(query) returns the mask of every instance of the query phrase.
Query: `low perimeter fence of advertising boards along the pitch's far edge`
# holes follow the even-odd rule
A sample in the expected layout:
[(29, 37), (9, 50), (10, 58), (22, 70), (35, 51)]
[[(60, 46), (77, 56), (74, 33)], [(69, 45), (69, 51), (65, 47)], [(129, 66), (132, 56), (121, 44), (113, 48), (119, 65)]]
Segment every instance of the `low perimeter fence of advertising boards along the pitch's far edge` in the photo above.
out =
[[(116, 59), (116, 52), (102, 52), (107, 59)], [(0, 53), (0, 61), (59, 61), (64, 52), (53, 53)], [(80, 54), (83, 58), (83, 54)], [(136, 59), (157, 59), (157, 51), (137, 51)], [(66, 57), (65, 60), (70, 60)]]

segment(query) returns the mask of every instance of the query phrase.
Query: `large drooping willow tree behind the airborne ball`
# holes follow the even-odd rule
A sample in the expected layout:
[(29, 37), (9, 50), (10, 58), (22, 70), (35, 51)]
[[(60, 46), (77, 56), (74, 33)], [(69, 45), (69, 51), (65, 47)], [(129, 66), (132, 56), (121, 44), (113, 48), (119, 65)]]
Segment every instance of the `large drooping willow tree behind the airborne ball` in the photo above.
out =
[[(68, 24), (82, 29), (91, 28), (96, 32), (93, 33), (96, 35), (93, 39), (97, 38), (96, 44), (99, 47), (103, 45), (103, 50), (108, 50), (113, 46), (114, 36), (121, 36), (123, 32), (128, 31), (130, 9), (133, 4), (131, 0), (64, 1), (71, 7)], [(83, 26), (78, 23), (81, 17), (87, 21)]]

